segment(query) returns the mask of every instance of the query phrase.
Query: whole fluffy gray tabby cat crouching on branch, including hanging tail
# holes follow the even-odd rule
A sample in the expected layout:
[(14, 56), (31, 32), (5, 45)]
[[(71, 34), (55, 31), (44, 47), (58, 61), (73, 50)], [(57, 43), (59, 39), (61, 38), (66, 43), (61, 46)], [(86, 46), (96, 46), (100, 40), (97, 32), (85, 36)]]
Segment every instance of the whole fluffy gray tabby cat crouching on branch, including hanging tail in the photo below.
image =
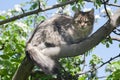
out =
[(40, 50), (78, 43), (92, 32), (93, 24), (93, 9), (88, 12), (77, 11), (74, 17), (57, 14), (37, 26), (28, 41), (33, 46), (27, 46), (28, 54), (45, 73), (57, 73), (58, 62), (40, 54)]

